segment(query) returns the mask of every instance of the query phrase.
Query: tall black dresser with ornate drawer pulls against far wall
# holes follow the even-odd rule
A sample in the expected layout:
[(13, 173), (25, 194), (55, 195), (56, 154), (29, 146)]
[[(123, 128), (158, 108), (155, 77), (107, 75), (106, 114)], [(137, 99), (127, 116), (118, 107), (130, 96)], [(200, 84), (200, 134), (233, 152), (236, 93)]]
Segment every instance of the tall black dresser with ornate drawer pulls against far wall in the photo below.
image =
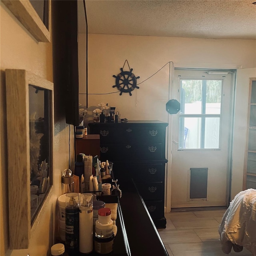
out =
[(168, 124), (128, 121), (89, 123), (88, 126), (90, 134), (100, 134), (100, 160), (114, 163), (115, 178), (120, 183), (130, 182), (133, 178), (155, 226), (166, 228), (164, 182)]

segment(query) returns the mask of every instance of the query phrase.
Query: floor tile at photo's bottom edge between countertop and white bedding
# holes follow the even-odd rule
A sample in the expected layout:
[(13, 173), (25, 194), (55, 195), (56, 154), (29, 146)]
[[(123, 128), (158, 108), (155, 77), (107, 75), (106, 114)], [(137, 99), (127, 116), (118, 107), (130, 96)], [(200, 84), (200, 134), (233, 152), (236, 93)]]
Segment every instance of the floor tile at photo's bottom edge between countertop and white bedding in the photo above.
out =
[(226, 256), (220, 242), (197, 242), (168, 244), (173, 256)]

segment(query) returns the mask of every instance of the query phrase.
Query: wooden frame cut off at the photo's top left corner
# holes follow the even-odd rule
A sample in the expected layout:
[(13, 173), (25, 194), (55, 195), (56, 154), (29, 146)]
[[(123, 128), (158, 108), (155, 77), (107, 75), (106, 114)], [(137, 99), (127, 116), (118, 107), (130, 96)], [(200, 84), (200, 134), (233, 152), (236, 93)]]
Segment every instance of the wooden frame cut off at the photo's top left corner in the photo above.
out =
[[(50, 42), (50, 29), (46, 28), (29, 0), (1, 0), (22, 25), (36, 38), (38, 42)], [(46, 0), (46, 23), (50, 27), (51, 0)]]

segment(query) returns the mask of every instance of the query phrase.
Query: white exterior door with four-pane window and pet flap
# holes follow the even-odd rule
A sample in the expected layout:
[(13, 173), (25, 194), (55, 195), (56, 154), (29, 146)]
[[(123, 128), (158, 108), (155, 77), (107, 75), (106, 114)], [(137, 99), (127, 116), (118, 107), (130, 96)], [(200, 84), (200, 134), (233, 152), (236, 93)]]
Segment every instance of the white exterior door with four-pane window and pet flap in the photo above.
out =
[(233, 76), (174, 70), (181, 110), (172, 116), (171, 208), (227, 204)]

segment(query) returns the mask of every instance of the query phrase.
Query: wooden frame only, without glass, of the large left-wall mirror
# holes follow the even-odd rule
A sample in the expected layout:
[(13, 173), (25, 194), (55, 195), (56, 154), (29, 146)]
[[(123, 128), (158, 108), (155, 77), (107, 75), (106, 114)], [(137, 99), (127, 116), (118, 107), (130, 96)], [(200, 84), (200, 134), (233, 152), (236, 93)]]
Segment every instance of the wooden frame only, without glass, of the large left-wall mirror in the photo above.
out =
[[(54, 91), (52, 82), (26, 70), (6, 69), (5, 76), (10, 249), (26, 249), (29, 245), (32, 226), (30, 213), (29, 86), (38, 90), (45, 90), (46, 95), (48, 95), (48, 125), (50, 126), (48, 130), (48, 154), (51, 172), (53, 172)], [(51, 176), (53, 177), (53, 174)], [(53, 184), (52, 178), (50, 184)], [(49, 196), (51, 189), (52, 186), (49, 186), (48, 194), (45, 194), (44, 200)]]

